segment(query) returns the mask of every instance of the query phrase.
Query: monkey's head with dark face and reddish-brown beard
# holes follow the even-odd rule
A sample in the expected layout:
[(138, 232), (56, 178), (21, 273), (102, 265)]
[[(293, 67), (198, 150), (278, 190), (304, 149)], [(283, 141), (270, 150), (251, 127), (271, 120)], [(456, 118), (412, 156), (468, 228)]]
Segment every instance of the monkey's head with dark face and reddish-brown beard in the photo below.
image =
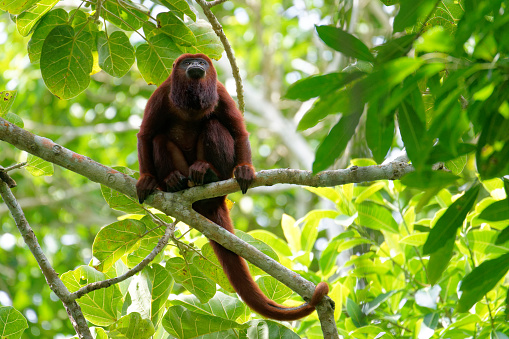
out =
[[(206, 114), (217, 104), (217, 74), (205, 54), (183, 54), (173, 63), (171, 72), (172, 102), (187, 112)], [(198, 118), (193, 113), (188, 118)]]

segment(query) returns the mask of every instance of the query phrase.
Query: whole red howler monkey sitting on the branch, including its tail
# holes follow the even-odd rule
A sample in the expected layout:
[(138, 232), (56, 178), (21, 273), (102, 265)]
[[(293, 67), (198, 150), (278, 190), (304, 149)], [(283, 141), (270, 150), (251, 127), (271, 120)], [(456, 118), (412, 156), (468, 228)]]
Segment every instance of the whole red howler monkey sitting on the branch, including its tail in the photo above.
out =
[[(156, 188), (176, 192), (192, 185), (226, 180), (235, 175), (246, 193), (255, 178), (251, 147), (242, 114), (211, 60), (204, 54), (184, 54), (150, 97), (138, 133), (140, 203)], [(226, 196), (201, 200), (193, 209), (234, 233)], [(329, 287), (320, 283), (309, 303), (288, 308), (267, 298), (237, 254), (211, 241), (233, 288), (244, 302), (264, 317), (302, 318), (315, 309)]]

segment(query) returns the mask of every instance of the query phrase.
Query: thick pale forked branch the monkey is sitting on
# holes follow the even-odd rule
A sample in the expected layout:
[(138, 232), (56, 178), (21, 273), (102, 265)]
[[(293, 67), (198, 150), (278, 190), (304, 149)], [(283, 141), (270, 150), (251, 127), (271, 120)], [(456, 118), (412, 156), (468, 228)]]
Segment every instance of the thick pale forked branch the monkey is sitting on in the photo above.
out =
[[(86, 156), (74, 153), (47, 138), (27, 132), (2, 118), (0, 118), (0, 140), (136, 199), (136, 180), (134, 178), (97, 163)], [(380, 179), (395, 180), (411, 171), (413, 171), (412, 166), (402, 162), (382, 166), (351, 167), (345, 170), (324, 171), (317, 175), (313, 175), (310, 171), (278, 169), (258, 172), (252, 187), (271, 186), (278, 183), (314, 187), (336, 186)], [(304, 299), (309, 300), (315, 290), (313, 283), (296, 275), (295, 272), (272, 260), (222, 227), (210, 222), (191, 207), (194, 201), (226, 195), (238, 190), (237, 182), (230, 179), (193, 187), (177, 193), (158, 191), (150, 196), (146, 203), (188, 225), (192, 225), (207, 238), (246, 258), (296, 291)], [(324, 301), (317, 307), (317, 311), (324, 337), (338, 338), (331, 299), (324, 298)]]

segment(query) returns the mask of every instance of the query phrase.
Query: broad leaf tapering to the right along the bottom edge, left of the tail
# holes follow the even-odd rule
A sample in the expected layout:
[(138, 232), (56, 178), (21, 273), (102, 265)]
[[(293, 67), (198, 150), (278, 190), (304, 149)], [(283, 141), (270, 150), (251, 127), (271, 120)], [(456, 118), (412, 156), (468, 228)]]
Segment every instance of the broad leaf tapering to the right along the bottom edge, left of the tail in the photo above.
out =
[(183, 306), (170, 307), (163, 318), (163, 326), (168, 333), (179, 339), (248, 327), (224, 318), (192, 312)]

